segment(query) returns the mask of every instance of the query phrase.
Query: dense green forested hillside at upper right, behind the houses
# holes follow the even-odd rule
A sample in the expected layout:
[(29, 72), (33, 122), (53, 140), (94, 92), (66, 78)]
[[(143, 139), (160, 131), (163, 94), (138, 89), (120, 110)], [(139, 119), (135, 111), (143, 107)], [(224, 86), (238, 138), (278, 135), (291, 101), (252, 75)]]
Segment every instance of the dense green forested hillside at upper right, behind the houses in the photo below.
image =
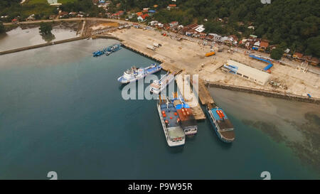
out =
[(179, 9), (171, 11), (161, 9), (173, 3), (166, 0), (114, 1), (117, 3), (121, 3), (118, 9), (126, 11), (158, 4), (154, 18), (163, 23), (203, 23), (206, 32), (238, 37), (253, 33), (279, 48), (320, 57), (319, 0), (272, 0), (271, 4), (262, 4), (260, 0), (185, 0), (177, 1)]

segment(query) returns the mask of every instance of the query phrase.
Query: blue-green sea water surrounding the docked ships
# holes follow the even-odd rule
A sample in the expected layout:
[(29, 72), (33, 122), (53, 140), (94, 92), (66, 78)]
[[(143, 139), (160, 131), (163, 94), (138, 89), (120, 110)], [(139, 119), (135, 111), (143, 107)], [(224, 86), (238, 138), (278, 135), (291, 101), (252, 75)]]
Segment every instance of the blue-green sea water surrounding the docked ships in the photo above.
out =
[[(286, 115), (286, 106), (309, 104), (211, 89), (236, 141), (220, 142), (206, 120), (182, 149), (169, 148), (156, 102), (122, 99), (117, 82), (132, 65), (154, 61), (126, 49), (92, 58), (112, 43), (84, 40), (0, 56), (0, 179), (48, 179), (49, 171), (60, 179), (261, 179), (262, 171), (274, 179), (319, 178), (284, 141), (243, 122), (272, 118), (267, 113), (275, 110), (266, 107), (274, 104)], [(319, 113), (314, 104), (310, 109)]]

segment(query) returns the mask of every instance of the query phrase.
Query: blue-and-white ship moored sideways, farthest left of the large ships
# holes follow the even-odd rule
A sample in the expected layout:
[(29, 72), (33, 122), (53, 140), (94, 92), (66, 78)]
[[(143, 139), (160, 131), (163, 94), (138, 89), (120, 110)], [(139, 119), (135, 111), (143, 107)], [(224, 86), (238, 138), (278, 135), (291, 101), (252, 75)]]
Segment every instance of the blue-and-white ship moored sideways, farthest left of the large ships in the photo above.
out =
[(135, 82), (143, 77), (146, 77), (146, 75), (158, 72), (159, 70), (161, 70), (161, 65), (156, 65), (156, 63), (146, 68), (132, 67), (130, 70), (126, 70), (123, 75), (118, 78), (118, 82), (121, 82), (122, 84)]

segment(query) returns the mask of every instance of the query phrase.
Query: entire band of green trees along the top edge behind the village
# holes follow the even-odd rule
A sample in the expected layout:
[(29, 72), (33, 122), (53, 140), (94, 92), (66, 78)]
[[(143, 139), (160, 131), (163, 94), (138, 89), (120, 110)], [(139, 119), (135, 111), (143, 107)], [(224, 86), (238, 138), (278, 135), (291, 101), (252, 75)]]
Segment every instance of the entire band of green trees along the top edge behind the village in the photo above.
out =
[[(89, 16), (99, 16), (105, 11), (92, 4), (92, 0), (63, 0), (63, 11), (83, 11)], [(57, 14), (53, 6), (43, 0), (30, 0), (20, 5), (20, 0), (1, 0), (0, 16), (6, 21), (16, 16), (48, 18)], [(117, 4), (119, 6), (117, 6)], [(154, 5), (158, 5), (156, 8)], [(179, 0), (178, 9), (165, 9), (171, 0), (113, 0), (109, 12), (119, 10), (141, 11), (149, 7), (157, 11), (153, 18), (161, 23), (178, 21), (183, 25), (204, 24), (207, 33), (236, 35), (239, 38), (255, 34), (278, 45), (282, 50), (314, 55), (320, 58), (320, 1), (319, 0), (272, 0), (262, 4), (260, 0)], [(247, 28), (254, 26), (255, 29)]]

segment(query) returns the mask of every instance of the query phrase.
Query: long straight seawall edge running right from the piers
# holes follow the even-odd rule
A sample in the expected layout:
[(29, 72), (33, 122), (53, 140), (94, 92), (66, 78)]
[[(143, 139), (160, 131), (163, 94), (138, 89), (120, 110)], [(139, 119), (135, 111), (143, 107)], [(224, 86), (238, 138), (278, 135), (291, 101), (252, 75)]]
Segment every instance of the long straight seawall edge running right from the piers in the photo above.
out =
[(291, 94), (286, 94), (286, 93), (277, 92), (277, 91), (260, 90), (260, 89), (255, 89), (255, 88), (251, 88), (251, 87), (225, 85), (225, 84), (221, 84), (218, 82), (206, 82), (205, 84), (209, 87), (218, 87), (218, 88), (222, 88), (222, 89), (226, 89), (226, 90), (247, 92), (247, 93), (252, 93), (255, 95), (262, 95), (265, 97), (277, 97), (277, 98), (289, 99), (289, 100), (297, 101), (297, 102), (309, 102), (309, 103), (314, 103), (314, 104), (320, 104), (319, 98), (303, 97), (303, 96), (299, 96), (299, 95), (291, 95)]

